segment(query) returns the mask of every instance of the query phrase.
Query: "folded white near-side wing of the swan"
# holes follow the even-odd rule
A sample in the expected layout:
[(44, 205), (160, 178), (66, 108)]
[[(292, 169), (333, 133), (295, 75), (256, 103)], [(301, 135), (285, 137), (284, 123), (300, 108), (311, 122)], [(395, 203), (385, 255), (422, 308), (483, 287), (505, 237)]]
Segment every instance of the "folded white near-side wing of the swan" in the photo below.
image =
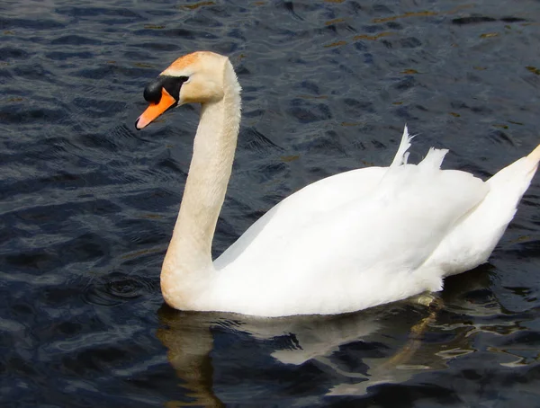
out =
[[(316, 271), (323, 276), (337, 269), (416, 271), (489, 191), (470, 173), (439, 170), (444, 153), (431, 150), (419, 165), (377, 174), (368, 195), (329, 212), (312, 213), (286, 234), (271, 218), (244, 248), (235, 268), (241, 270), (243, 264), (268, 265), (273, 273), (305, 270), (311, 279)], [(310, 206), (311, 201), (298, 200), (284, 207), (280, 218), (292, 220)]]

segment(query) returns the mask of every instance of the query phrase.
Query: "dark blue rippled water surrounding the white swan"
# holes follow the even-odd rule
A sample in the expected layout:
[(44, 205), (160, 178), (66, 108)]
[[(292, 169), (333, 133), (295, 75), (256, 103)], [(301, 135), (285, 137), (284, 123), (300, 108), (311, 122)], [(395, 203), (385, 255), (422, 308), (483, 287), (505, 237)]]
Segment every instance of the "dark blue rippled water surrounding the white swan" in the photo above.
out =
[(484, 178), (540, 142), (540, 3), (0, 3), (0, 405), (540, 406), (540, 177), (441, 307), (252, 319), (162, 306), (196, 108), (144, 131), (142, 90), (229, 55), (243, 127), (214, 243), (291, 192), (392, 161)]

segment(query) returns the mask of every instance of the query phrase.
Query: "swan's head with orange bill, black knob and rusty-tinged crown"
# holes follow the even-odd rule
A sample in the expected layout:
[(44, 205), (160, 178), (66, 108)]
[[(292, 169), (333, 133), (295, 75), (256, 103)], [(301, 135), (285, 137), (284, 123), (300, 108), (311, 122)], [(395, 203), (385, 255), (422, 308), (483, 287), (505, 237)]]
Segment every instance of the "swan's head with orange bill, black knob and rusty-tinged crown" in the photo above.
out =
[(184, 103), (206, 103), (223, 98), (223, 72), (229, 58), (197, 51), (178, 58), (144, 89), (148, 108), (135, 122), (143, 129), (162, 113)]

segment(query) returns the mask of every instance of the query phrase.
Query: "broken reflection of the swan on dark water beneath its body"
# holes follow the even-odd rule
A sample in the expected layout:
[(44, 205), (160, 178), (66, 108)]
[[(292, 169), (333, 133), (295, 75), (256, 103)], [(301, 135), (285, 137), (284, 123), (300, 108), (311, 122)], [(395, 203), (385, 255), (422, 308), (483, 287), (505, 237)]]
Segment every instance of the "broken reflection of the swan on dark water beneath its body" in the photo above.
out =
[[(476, 279), (461, 279), (464, 284), (456, 284), (456, 291), (463, 294), (464, 290), (478, 286), (489, 287), (488, 271), (475, 275)], [(454, 302), (455, 307), (460, 295), (448, 292), (445, 298)], [(220, 406), (215, 389), (219, 389), (217, 394), (228, 402), (247, 392), (239, 388), (239, 383), (254, 380), (246, 373), (246, 368), (250, 368), (250, 372), (267, 369), (261, 367), (260, 355), (257, 358), (253, 352), (242, 355), (238, 342), (246, 344), (249, 339), (264, 344), (257, 348), (257, 354), (266, 353), (267, 358), (271, 356), (275, 364), (285, 369), (309, 363), (311, 366), (306, 369), (323, 372), (325, 388), (314, 386), (317, 387), (315, 395), (365, 395), (368, 387), (402, 383), (419, 372), (446, 368), (446, 360), (474, 351), (468, 333), (476, 328), (466, 324), (459, 328), (444, 327), (445, 324), (436, 322), (438, 313), (434, 306), (401, 302), (350, 315), (266, 319), (224, 313), (185, 313), (162, 306), (159, 310), (162, 328), (157, 337), (166, 346), (171, 365), (193, 398), (192, 403), (176, 402), (170, 406)], [(430, 331), (437, 332), (435, 335), (441, 340), (423, 341)], [(447, 331), (451, 331), (451, 335), (444, 334)], [(219, 347), (217, 344), (214, 347), (214, 340), (223, 336), (227, 341), (220, 341)], [(237, 346), (227, 345), (231, 339), (237, 341)], [(361, 361), (361, 364), (351, 365), (347, 359)], [(233, 367), (238, 361), (244, 368)], [(220, 371), (219, 376), (214, 376), (216, 370)], [(229, 376), (225, 381), (227, 386), (220, 384), (224, 370), (227, 371), (225, 376)], [(230, 381), (231, 376), (238, 379), (238, 387)], [(279, 383), (280, 378), (275, 378), (275, 382)], [(244, 401), (248, 401), (249, 396), (244, 396)]]

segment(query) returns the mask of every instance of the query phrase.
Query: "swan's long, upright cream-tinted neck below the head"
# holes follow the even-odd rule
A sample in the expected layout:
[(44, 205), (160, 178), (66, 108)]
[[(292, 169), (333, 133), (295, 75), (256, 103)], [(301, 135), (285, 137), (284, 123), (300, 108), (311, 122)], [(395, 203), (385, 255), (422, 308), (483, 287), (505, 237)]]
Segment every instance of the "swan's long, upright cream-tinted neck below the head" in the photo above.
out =
[[(166, 302), (190, 303), (189, 290), (213, 272), (211, 241), (225, 200), (240, 123), (240, 86), (229, 61), (223, 73), (224, 96), (202, 105), (184, 197), (161, 271)], [(193, 293), (195, 296), (195, 293)], [(177, 300), (173, 300), (173, 297)]]

